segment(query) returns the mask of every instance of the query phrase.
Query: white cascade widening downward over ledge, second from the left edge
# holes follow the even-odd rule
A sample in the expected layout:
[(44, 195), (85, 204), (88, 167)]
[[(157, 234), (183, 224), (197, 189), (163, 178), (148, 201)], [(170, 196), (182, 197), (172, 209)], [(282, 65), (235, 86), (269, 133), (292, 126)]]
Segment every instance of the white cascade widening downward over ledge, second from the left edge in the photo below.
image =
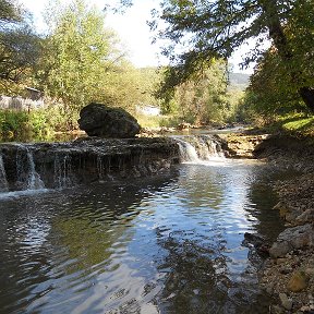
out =
[(45, 184), (35, 169), (32, 152), (20, 145), (16, 153), (16, 185), (19, 190), (40, 190)]

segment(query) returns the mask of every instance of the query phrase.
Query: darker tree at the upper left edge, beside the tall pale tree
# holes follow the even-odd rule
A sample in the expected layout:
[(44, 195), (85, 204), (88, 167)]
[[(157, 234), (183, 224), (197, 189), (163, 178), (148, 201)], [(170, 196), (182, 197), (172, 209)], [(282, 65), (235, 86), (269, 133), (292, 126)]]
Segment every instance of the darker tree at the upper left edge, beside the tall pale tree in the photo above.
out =
[(1, 85), (25, 80), (37, 62), (40, 40), (26, 13), (11, 1), (0, 0)]

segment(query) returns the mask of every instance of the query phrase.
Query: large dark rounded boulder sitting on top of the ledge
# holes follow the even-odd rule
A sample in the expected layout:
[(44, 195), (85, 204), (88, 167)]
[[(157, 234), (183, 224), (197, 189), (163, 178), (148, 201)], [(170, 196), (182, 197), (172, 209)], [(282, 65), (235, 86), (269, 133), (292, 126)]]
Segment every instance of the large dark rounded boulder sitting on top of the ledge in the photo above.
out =
[(122, 108), (92, 102), (80, 112), (78, 125), (89, 136), (134, 137), (141, 130), (137, 120)]

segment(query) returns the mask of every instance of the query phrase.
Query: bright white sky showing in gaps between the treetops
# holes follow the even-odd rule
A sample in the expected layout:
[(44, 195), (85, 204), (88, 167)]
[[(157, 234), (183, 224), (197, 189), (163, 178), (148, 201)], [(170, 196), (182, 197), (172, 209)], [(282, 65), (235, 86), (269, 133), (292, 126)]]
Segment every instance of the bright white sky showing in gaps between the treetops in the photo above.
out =
[[(43, 31), (44, 21), (41, 13), (48, 5), (49, 0), (20, 0), (34, 15), (34, 22), (38, 31)], [(64, 0), (62, 1), (65, 2)], [(112, 0), (89, 0), (88, 3), (96, 4), (104, 9), (106, 3), (112, 4)], [(153, 34), (146, 22), (150, 17), (150, 10), (158, 7), (159, 0), (134, 0), (134, 4), (125, 10), (123, 14), (108, 13), (106, 26), (117, 32), (122, 46), (129, 52), (130, 61), (138, 68), (158, 67), (167, 64), (168, 60), (160, 56), (160, 47), (153, 45)], [(249, 47), (241, 47), (232, 56), (230, 62), (233, 64), (233, 72), (252, 73), (252, 69), (241, 70), (239, 63), (242, 56), (249, 50)]]

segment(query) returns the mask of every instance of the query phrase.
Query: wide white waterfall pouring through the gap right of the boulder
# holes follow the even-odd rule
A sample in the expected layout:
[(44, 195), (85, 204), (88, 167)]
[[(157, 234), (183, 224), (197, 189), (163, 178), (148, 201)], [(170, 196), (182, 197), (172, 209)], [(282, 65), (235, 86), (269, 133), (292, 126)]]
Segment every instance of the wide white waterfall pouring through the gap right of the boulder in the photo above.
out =
[(174, 137), (182, 162), (203, 162), (225, 159), (219, 141), (210, 135), (188, 135)]

